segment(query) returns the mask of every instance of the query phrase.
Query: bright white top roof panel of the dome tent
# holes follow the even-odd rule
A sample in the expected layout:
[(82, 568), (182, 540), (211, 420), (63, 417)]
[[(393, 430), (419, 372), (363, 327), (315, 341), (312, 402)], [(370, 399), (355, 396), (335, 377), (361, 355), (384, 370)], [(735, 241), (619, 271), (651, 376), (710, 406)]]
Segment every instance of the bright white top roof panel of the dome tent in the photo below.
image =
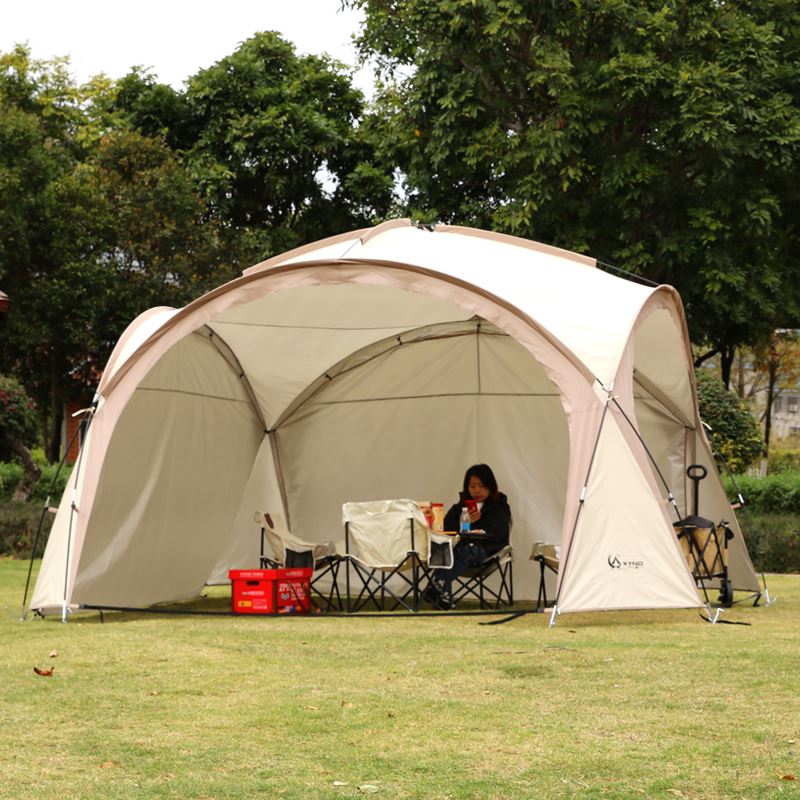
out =
[(418, 227), (405, 219), (324, 239), (244, 274), (321, 261), (403, 264), (481, 286), (536, 320), (606, 385), (642, 306), (656, 291), (567, 250), (474, 228)]

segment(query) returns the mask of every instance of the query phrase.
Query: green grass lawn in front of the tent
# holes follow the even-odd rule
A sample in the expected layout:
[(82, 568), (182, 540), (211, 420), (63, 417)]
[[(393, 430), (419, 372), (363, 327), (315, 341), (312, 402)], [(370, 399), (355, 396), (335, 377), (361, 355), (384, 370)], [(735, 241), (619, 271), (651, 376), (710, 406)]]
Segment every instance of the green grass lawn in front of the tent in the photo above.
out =
[(2, 798), (800, 797), (797, 575), (768, 576), (771, 608), (722, 616), (749, 626), (692, 610), (548, 629), (20, 622), (26, 569), (0, 561)]

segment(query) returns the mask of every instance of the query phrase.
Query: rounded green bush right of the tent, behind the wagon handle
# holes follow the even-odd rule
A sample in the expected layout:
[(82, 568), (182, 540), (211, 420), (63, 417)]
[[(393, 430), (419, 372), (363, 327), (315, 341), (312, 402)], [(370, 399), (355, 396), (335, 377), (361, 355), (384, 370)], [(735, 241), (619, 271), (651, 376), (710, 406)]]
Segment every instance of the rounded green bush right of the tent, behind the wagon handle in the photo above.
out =
[(747, 404), (709, 370), (698, 369), (700, 417), (711, 428), (711, 444), (734, 472), (743, 472), (764, 450), (764, 440)]

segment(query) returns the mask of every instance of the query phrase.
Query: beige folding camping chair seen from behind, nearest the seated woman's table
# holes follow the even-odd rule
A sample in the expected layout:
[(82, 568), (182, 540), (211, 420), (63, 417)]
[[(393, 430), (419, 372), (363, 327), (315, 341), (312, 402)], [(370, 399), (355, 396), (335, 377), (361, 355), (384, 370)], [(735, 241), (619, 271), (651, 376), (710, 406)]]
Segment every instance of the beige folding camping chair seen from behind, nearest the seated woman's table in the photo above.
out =
[[(430, 534), (425, 515), (412, 500), (375, 500), (342, 506), (347, 558), (347, 610), (372, 605), (419, 610), (420, 581), (429, 577), (425, 556)], [(350, 592), (351, 574), (358, 594)]]

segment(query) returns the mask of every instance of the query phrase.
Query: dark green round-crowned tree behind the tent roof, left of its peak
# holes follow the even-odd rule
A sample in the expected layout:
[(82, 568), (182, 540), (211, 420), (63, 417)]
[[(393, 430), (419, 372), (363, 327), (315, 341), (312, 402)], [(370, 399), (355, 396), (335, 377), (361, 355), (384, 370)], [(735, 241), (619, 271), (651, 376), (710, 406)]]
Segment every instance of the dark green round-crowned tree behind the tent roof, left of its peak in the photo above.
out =
[(183, 93), (141, 71), (111, 107), (179, 154), (240, 268), (388, 211), (391, 169), (362, 131), (364, 98), (326, 57), (259, 33)]

